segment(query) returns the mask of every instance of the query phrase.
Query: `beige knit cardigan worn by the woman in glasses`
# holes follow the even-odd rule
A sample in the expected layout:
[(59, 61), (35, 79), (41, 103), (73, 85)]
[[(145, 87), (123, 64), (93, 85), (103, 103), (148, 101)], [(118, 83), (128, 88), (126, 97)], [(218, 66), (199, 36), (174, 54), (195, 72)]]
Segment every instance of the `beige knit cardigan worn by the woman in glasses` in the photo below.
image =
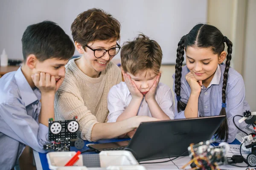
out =
[(55, 120), (78, 116), (81, 138), (91, 141), (93, 126), (108, 121), (108, 92), (122, 76), (117, 65), (110, 62), (98, 78), (89, 77), (77, 67), (76, 59), (67, 63), (65, 79), (55, 94)]

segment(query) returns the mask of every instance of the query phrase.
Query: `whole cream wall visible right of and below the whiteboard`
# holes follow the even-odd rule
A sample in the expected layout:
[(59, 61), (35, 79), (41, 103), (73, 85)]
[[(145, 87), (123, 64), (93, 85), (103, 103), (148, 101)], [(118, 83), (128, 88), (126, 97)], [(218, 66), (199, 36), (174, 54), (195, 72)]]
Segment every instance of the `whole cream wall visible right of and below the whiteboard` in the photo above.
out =
[[(233, 42), (232, 67), (243, 76), (251, 111), (256, 111), (255, 9), (256, 0), (208, 0), (207, 22)], [(162, 65), (161, 71), (160, 81), (172, 89), (175, 66)]]

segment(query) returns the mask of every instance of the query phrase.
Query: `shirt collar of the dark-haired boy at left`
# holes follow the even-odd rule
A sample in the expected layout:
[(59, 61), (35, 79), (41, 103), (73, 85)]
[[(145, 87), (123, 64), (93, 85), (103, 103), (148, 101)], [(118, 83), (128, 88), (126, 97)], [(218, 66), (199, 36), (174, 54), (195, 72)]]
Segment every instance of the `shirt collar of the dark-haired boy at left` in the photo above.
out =
[(29, 82), (21, 71), (21, 67), (15, 73), (15, 80), (20, 91), (20, 96), (25, 105), (28, 106), (35, 101), (41, 99), (41, 93), (38, 88), (32, 89)]

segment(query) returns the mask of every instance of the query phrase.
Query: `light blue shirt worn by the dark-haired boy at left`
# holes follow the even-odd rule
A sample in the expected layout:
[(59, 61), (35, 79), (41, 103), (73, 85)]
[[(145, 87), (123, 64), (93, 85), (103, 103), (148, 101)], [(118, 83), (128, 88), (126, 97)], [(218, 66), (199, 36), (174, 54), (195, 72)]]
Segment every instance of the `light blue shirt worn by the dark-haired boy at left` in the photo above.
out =
[(45, 153), (49, 129), (38, 124), (41, 92), (32, 89), (21, 68), (0, 78), (0, 169), (10, 170), (26, 145)]

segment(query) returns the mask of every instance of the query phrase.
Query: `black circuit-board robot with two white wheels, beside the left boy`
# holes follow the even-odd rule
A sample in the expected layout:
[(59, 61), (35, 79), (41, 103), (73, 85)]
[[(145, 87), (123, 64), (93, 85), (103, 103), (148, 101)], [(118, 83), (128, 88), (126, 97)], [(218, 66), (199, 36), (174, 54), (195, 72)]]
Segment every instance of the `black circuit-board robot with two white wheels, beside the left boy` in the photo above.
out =
[[(84, 147), (84, 141), (77, 139), (79, 123), (77, 116), (72, 120), (53, 121), (49, 119), (49, 141), (44, 145), (44, 150), (48, 151), (70, 151), (70, 146), (75, 142), (75, 147), (81, 149)], [(72, 142), (71, 142), (72, 140)]]

